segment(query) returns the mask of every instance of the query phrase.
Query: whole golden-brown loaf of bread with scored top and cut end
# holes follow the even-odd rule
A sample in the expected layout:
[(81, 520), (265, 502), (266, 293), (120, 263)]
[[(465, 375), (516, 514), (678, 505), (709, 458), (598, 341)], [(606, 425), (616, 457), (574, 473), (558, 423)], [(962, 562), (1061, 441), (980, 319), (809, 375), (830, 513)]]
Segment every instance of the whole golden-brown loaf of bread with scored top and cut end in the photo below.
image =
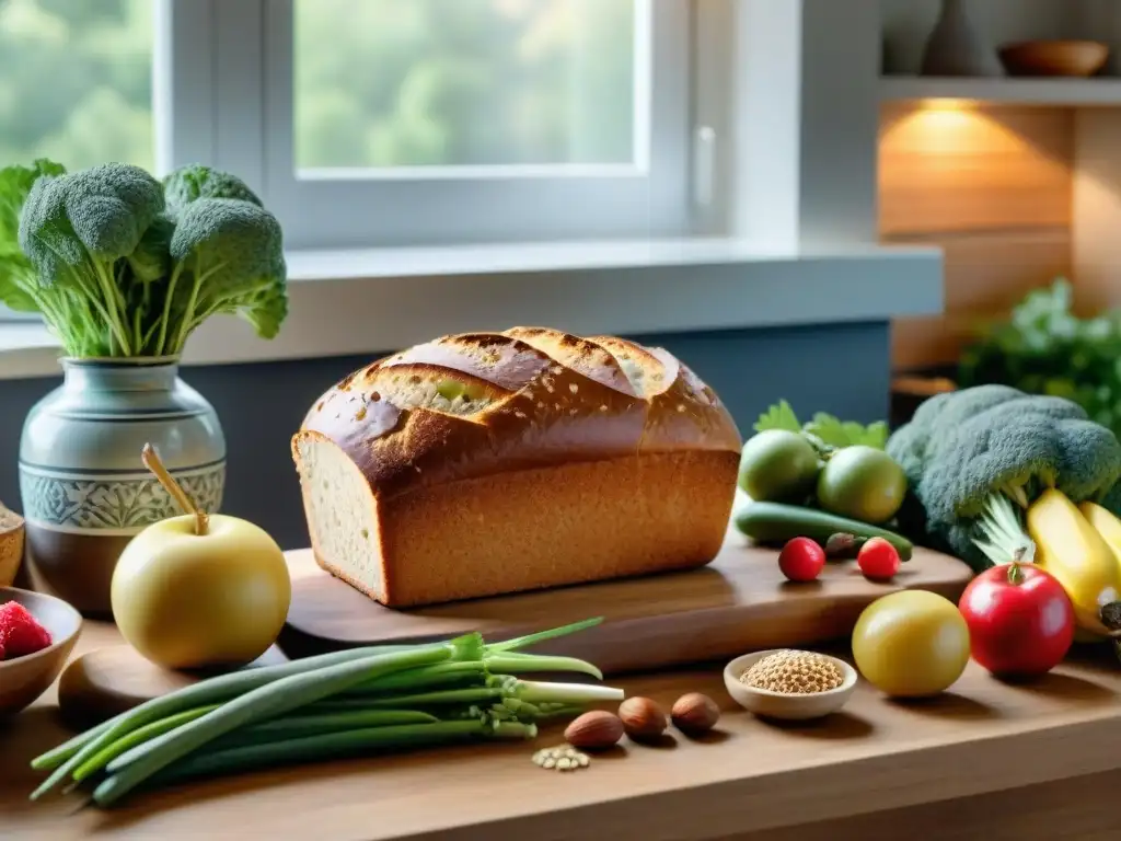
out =
[(411, 607), (704, 565), (741, 444), (666, 351), (515, 327), (355, 371), (291, 447), (318, 564)]

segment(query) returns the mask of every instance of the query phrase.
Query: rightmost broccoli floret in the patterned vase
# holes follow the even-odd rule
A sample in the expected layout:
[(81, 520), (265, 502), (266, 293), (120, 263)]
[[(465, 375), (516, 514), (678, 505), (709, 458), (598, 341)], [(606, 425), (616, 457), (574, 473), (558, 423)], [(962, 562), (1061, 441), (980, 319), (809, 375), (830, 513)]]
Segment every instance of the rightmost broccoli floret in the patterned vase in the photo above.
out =
[(284, 237), (271, 213), (238, 198), (197, 198), (179, 215), (170, 255), (179, 330), (169, 352), (216, 313), (242, 315), (263, 338), (276, 335), (287, 295)]

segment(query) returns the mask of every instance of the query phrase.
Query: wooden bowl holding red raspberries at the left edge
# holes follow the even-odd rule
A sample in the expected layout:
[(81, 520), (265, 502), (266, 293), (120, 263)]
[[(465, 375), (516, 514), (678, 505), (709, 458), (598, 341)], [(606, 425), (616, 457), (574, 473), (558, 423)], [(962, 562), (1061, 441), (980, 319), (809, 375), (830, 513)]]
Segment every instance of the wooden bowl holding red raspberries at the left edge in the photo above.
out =
[(0, 604), (9, 601), (27, 608), (54, 641), (41, 651), (0, 660), (0, 718), (15, 715), (46, 692), (63, 671), (82, 632), (82, 614), (62, 599), (13, 586), (0, 588)]

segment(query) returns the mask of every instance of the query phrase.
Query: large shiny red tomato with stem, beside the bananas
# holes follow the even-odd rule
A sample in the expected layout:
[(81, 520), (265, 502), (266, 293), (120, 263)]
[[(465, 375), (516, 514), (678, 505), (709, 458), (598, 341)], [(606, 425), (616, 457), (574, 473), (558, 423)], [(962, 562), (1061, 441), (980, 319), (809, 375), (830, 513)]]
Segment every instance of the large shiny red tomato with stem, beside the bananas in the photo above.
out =
[(1074, 608), (1063, 585), (1032, 564), (985, 570), (957, 604), (970, 628), (970, 649), (1002, 677), (1046, 674), (1074, 640)]

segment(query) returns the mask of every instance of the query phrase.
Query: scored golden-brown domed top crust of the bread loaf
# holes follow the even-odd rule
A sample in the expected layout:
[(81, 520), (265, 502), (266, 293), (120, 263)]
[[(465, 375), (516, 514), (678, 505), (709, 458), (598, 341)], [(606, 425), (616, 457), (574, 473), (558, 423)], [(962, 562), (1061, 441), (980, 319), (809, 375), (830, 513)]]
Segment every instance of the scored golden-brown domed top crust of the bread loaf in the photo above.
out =
[(506, 472), (742, 440), (716, 395), (671, 354), (544, 327), (444, 336), (354, 371), (293, 441), (322, 435), (382, 500)]

